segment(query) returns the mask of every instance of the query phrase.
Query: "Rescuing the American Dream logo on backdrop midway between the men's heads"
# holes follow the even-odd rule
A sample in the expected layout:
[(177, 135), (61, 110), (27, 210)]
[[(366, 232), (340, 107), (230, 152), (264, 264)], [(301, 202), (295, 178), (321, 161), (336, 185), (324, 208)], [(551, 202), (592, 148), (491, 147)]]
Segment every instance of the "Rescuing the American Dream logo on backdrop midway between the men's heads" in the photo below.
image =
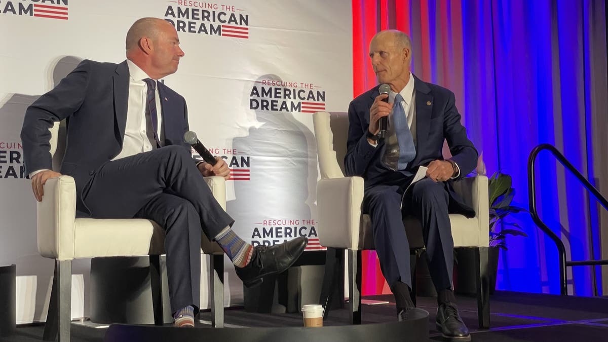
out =
[(309, 82), (263, 77), (249, 92), (249, 109), (314, 113), (325, 110), (325, 91)]

